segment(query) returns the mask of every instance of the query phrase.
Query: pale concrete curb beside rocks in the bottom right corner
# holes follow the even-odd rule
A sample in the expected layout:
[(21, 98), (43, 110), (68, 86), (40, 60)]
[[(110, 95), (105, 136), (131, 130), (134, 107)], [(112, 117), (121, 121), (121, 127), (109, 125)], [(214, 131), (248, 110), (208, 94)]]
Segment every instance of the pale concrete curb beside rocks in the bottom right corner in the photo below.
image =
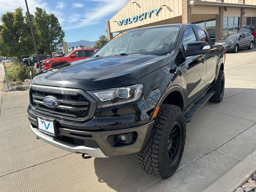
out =
[(256, 171), (256, 151), (248, 155), (203, 192), (234, 192)]

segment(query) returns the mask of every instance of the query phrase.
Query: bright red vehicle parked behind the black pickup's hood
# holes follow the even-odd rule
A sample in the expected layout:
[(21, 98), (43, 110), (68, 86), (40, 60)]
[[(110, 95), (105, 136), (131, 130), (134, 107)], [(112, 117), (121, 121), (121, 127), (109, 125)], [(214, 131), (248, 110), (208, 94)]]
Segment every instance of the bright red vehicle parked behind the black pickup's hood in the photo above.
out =
[(65, 63), (86, 59), (94, 54), (97, 49), (78, 49), (67, 53), (63, 57), (50, 58), (42, 61), (43, 70), (47, 70)]

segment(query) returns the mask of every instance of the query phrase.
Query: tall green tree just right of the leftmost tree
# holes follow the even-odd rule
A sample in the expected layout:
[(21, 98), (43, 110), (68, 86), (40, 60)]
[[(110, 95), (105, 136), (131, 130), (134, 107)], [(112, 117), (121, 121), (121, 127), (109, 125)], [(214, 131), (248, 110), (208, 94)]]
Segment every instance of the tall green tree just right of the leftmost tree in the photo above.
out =
[(64, 41), (65, 33), (62, 30), (58, 18), (54, 14), (47, 14), (42, 8), (36, 8), (34, 16), (35, 34), (38, 39), (40, 53), (52, 52)]

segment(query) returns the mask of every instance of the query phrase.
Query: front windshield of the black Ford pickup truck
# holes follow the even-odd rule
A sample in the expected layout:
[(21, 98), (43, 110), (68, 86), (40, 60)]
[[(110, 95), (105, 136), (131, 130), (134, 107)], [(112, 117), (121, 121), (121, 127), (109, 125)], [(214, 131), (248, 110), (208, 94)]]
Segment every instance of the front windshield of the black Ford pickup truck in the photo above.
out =
[(167, 26), (123, 32), (112, 38), (94, 56), (120, 54), (166, 55), (173, 49), (178, 30), (178, 26)]

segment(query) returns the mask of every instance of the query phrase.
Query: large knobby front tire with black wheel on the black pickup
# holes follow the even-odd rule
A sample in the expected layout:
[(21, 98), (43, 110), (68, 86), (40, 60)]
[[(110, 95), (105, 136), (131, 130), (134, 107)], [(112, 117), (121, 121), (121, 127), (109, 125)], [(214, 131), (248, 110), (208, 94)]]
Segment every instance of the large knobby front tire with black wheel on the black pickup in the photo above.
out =
[(155, 118), (148, 144), (138, 154), (140, 166), (148, 174), (167, 179), (178, 169), (185, 140), (186, 122), (181, 108), (162, 104)]

